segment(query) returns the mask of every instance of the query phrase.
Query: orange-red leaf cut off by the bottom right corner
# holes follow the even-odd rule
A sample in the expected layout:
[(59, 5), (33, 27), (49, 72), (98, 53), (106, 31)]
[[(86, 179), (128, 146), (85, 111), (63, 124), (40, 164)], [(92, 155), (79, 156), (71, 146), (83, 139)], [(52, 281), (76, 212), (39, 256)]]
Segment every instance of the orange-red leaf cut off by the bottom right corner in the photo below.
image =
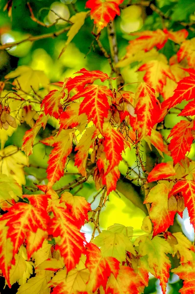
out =
[(184, 280), (183, 287), (179, 290), (181, 294), (195, 293), (195, 261), (183, 263), (177, 269), (171, 270)]

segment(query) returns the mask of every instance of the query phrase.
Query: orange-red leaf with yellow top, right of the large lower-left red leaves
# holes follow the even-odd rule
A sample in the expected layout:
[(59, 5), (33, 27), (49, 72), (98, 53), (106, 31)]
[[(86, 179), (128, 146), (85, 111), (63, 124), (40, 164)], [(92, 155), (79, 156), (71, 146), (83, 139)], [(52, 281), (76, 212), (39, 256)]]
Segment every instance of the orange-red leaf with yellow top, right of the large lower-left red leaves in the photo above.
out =
[(66, 204), (67, 209), (70, 210), (72, 216), (76, 219), (78, 228), (84, 225), (85, 220), (88, 221), (88, 212), (91, 211), (91, 204), (88, 203), (84, 197), (73, 196), (69, 192), (61, 195), (60, 202)]

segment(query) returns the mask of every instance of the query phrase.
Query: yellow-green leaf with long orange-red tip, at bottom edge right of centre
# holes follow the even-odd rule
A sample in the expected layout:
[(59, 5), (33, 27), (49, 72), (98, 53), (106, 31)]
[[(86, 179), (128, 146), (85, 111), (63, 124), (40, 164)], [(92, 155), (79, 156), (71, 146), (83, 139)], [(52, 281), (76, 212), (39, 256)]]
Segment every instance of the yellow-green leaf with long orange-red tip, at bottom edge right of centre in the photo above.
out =
[(136, 239), (135, 245), (139, 244), (139, 254), (147, 255), (149, 268), (154, 270), (154, 276), (160, 280), (163, 294), (170, 276), (171, 262), (166, 253), (171, 253), (171, 245), (160, 237), (142, 236)]

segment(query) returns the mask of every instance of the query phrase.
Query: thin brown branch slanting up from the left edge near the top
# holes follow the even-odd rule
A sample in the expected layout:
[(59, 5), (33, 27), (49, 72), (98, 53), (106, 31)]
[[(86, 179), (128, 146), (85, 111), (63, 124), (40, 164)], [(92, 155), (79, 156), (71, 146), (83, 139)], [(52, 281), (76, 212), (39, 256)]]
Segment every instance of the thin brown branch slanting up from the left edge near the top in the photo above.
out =
[(67, 32), (69, 29), (71, 28), (71, 26), (68, 26), (66, 28), (63, 28), (59, 31), (53, 32), (53, 33), (48, 33), (48, 34), (43, 34), (43, 35), (38, 35), (38, 36), (29, 36), (28, 38), (19, 41), (19, 42), (11, 42), (11, 43), (6, 43), (4, 45), (0, 45), (0, 50), (4, 50), (4, 49), (10, 49), (14, 46), (18, 46), (24, 42), (34, 42), (34, 41), (38, 41), (38, 40), (43, 40), (43, 39), (47, 39), (47, 38), (56, 38), (59, 35), (63, 34), (64, 32)]

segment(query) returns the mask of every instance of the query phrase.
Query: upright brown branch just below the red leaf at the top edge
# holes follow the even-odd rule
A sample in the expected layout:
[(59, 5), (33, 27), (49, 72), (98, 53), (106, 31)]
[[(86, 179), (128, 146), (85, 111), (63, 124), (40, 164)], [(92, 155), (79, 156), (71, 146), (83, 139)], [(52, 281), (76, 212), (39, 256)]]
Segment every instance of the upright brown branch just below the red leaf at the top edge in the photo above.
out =
[[(114, 61), (114, 65), (118, 63), (118, 46), (117, 46), (117, 37), (114, 28), (114, 23), (110, 22), (107, 26), (108, 28), (108, 40), (110, 45), (110, 53), (112, 60)], [(124, 80), (119, 68), (115, 69), (115, 73), (117, 74), (117, 87), (121, 88), (124, 85)]]

